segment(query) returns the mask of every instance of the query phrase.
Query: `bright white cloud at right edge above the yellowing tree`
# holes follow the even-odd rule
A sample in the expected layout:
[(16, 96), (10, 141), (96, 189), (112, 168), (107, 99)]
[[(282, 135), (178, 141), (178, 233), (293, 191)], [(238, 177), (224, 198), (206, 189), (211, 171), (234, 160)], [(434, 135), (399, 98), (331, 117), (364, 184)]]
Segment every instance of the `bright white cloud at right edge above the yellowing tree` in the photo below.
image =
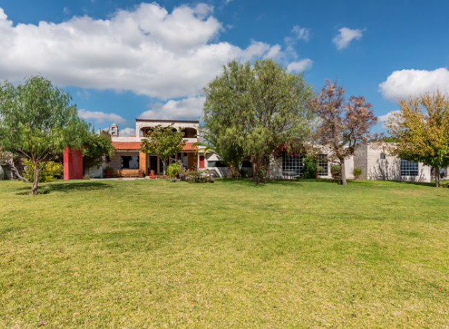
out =
[(382, 82), (380, 91), (387, 100), (416, 97), (427, 91), (449, 91), (449, 71), (446, 68), (434, 71), (401, 70), (394, 71)]

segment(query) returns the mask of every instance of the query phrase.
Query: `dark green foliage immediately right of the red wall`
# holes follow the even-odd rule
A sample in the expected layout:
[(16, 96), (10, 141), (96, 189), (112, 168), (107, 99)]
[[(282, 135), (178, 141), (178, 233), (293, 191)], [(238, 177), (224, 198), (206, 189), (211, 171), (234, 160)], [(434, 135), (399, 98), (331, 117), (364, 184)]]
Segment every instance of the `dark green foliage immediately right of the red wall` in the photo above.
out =
[(82, 166), (84, 171), (89, 168), (100, 168), (103, 157), (113, 157), (115, 148), (107, 134), (86, 134), (82, 144)]

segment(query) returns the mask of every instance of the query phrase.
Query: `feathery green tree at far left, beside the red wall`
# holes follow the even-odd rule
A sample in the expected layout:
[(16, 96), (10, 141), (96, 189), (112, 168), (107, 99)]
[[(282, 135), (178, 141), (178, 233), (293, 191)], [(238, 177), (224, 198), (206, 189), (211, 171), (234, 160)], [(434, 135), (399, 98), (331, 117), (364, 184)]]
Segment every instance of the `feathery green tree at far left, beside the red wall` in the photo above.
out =
[(76, 105), (71, 105), (71, 96), (42, 76), (28, 78), (17, 87), (1, 82), (0, 116), (0, 146), (34, 165), (33, 195), (45, 163), (65, 147), (80, 148), (88, 131)]

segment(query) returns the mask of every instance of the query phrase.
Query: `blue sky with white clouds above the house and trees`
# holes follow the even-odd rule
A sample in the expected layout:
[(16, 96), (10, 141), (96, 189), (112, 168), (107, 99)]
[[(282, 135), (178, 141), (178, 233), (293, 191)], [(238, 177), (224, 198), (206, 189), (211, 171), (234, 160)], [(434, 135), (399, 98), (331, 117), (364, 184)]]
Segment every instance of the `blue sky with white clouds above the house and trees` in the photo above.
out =
[(381, 122), (398, 98), (449, 91), (449, 1), (0, 0), (0, 80), (51, 79), (97, 128), (201, 119), (228, 60), (272, 58), (319, 91), (365, 96)]

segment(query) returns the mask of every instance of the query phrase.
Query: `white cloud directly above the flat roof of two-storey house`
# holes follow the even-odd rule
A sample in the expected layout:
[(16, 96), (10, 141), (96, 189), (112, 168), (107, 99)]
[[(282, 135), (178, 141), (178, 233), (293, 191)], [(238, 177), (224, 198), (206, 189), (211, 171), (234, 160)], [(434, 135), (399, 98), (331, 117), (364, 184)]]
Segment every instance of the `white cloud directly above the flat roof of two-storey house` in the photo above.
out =
[(204, 101), (205, 97), (199, 96), (183, 100), (169, 100), (165, 104), (152, 104), (151, 109), (140, 114), (139, 118), (199, 120), (203, 112)]

